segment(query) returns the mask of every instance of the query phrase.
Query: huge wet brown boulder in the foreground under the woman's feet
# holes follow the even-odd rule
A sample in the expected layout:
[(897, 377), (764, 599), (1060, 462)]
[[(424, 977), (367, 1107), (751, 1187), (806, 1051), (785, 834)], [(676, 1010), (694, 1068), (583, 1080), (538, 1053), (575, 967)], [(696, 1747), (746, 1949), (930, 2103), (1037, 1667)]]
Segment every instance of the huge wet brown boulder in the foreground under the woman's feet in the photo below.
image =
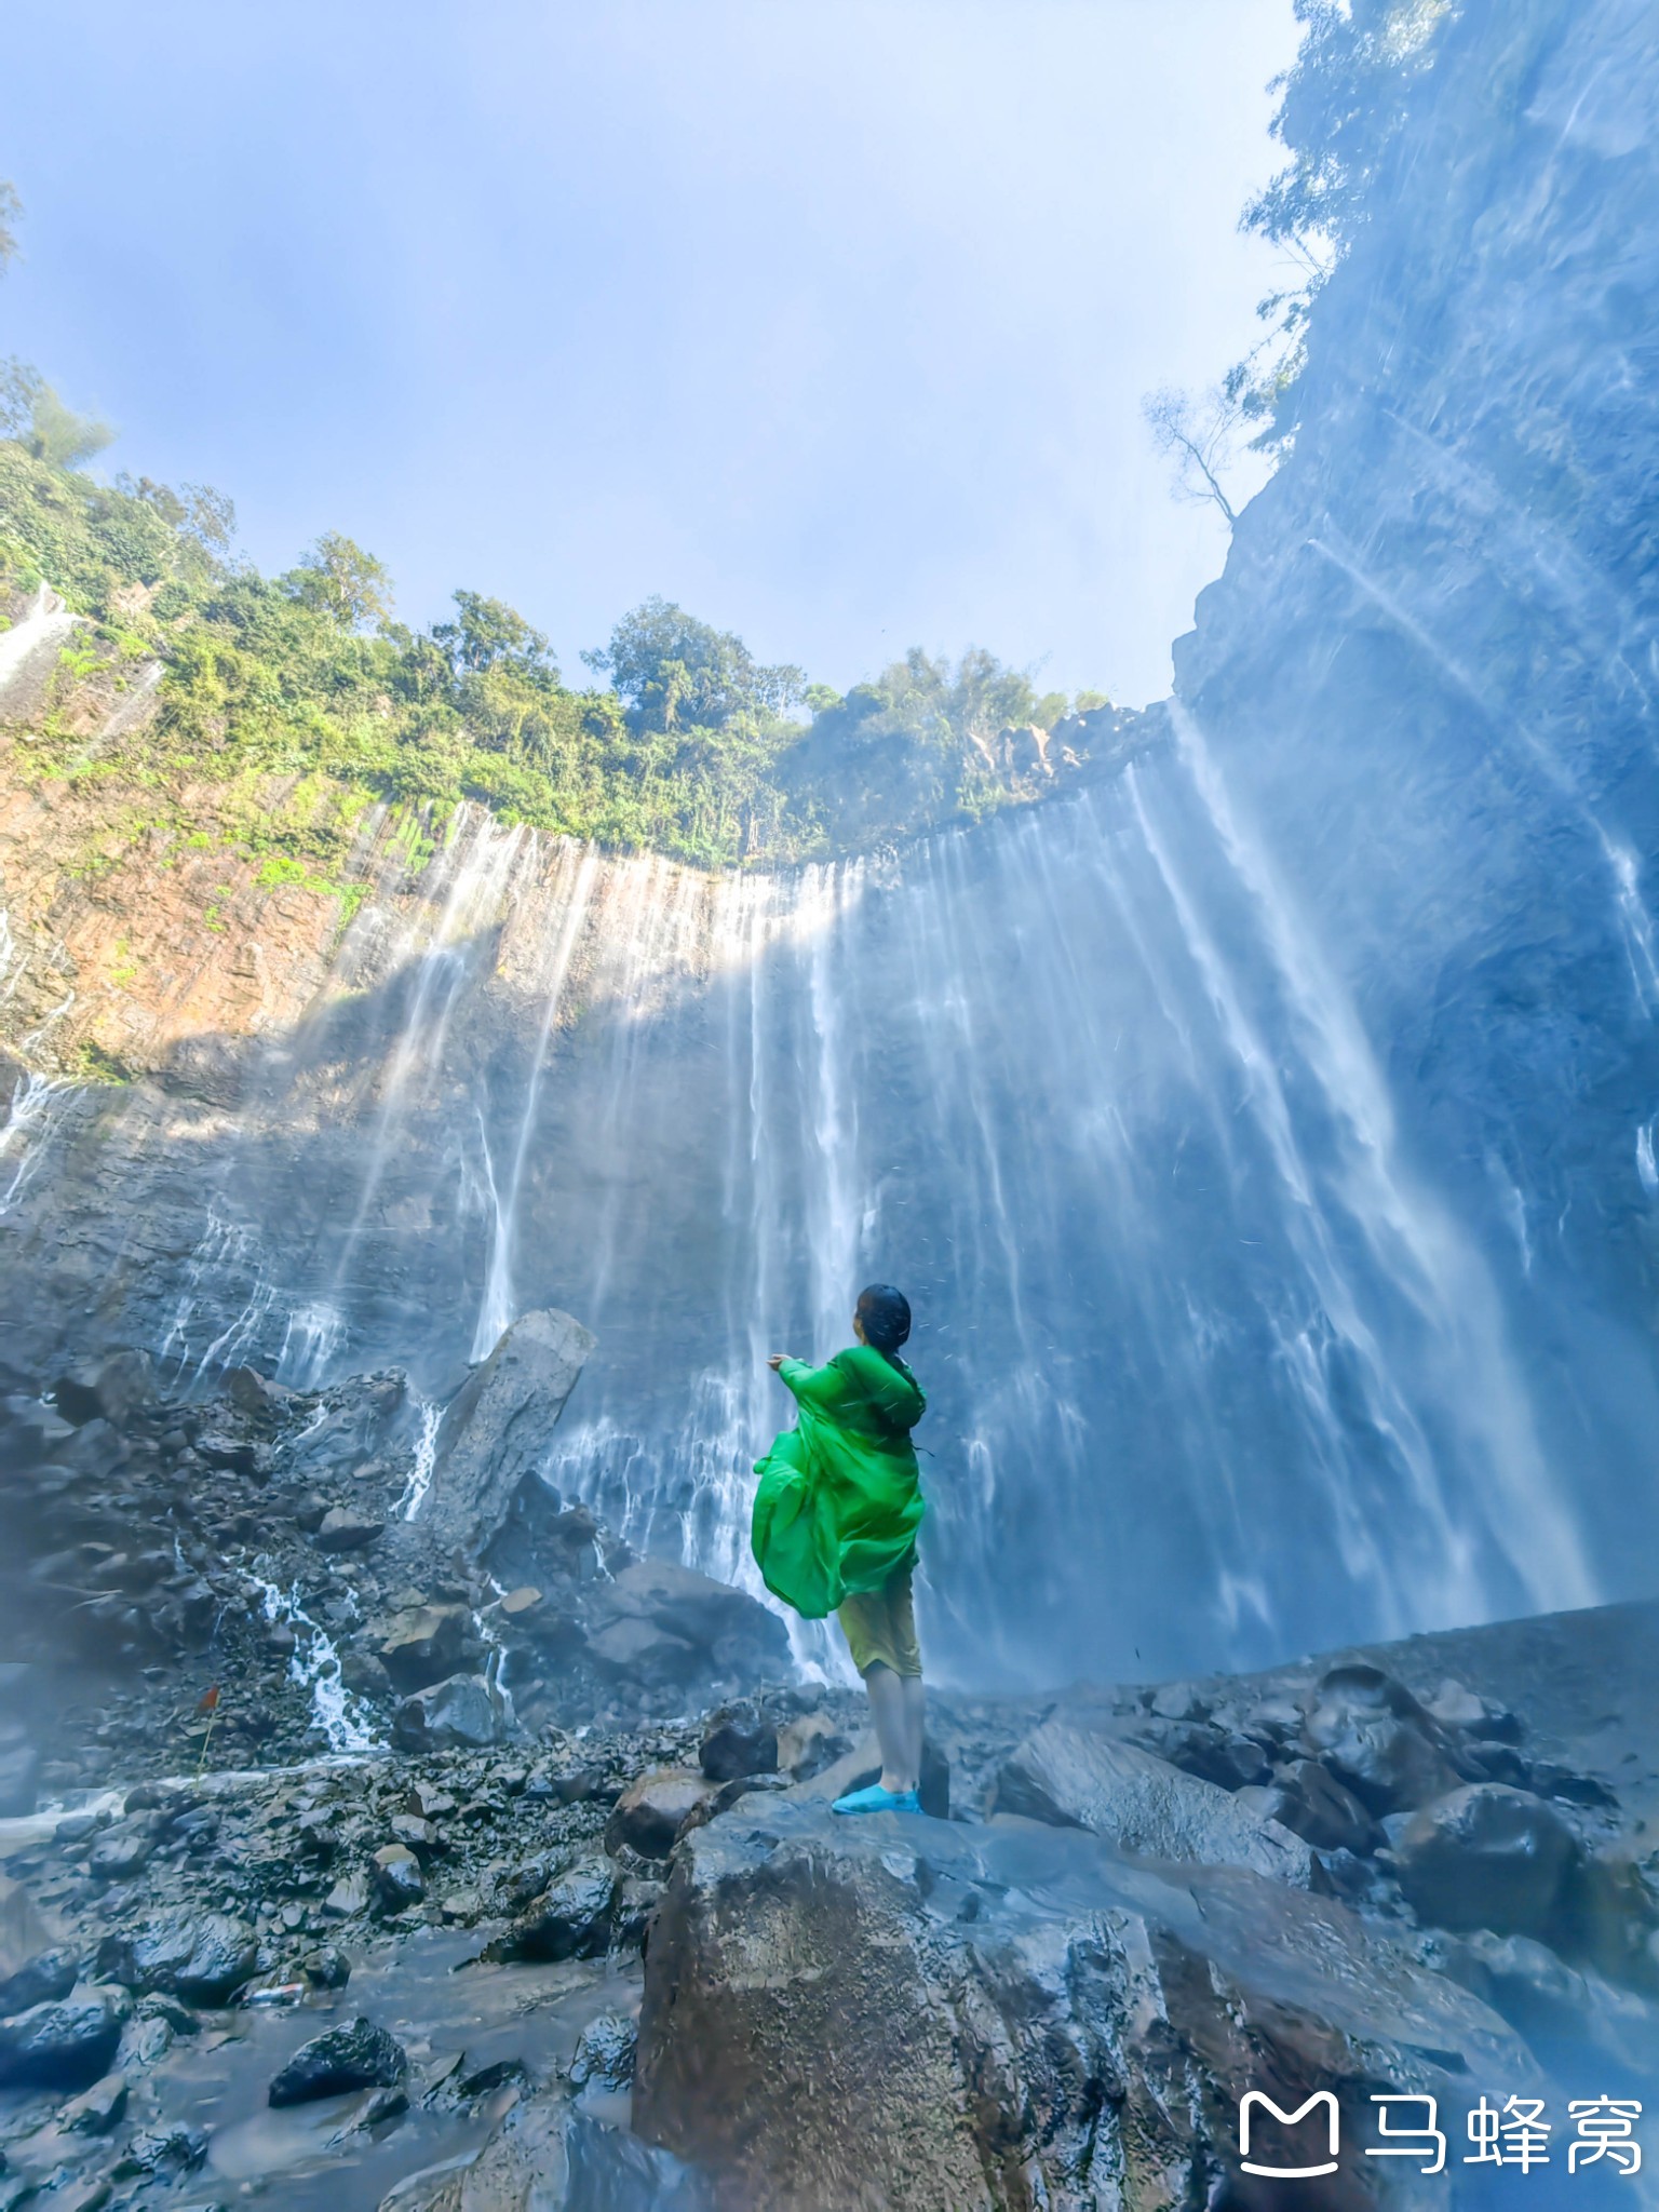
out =
[(1378, 2084), (1540, 2093), (1504, 2022), (1329, 1898), (1075, 1829), (759, 1798), (675, 1854), (633, 2124), (721, 2203), (1104, 2212), (1219, 2205), (1248, 2088), (1332, 2090), (1360, 2141)]

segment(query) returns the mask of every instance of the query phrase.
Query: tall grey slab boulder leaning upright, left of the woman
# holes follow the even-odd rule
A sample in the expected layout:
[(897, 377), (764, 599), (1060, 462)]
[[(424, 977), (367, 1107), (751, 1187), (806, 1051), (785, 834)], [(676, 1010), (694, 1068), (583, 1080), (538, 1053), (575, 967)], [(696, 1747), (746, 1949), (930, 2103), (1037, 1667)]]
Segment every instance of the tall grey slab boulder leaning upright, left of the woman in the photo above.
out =
[(473, 1367), (445, 1411), (420, 1506), (420, 1526), (438, 1544), (473, 1559), (489, 1546), (518, 1486), (546, 1458), (593, 1343), (568, 1314), (522, 1314)]

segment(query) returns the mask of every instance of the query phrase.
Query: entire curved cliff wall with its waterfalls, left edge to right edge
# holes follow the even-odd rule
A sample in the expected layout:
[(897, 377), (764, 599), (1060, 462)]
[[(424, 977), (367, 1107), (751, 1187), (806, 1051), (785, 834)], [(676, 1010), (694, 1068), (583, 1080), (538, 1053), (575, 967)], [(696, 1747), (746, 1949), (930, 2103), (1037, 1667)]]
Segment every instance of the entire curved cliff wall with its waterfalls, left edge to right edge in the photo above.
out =
[(790, 876), (365, 816), (349, 911), (177, 838), (75, 874), (18, 779), (31, 1053), (142, 1079), (20, 1091), (13, 1371), (436, 1400), (560, 1307), (549, 1478), (734, 1575), (765, 1354), (885, 1276), (960, 1677), (1646, 1588), (1655, 71), (1626, 0), (1440, 38), (1179, 699), (1071, 796)]

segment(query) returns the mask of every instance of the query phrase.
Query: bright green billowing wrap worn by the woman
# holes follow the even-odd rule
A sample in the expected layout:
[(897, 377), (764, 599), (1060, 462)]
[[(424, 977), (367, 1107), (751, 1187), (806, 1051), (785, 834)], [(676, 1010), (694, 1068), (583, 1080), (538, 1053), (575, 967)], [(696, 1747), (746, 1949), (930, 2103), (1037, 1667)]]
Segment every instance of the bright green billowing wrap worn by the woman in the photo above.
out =
[(916, 1376), (869, 1345), (823, 1367), (785, 1360), (799, 1422), (754, 1469), (750, 1544), (774, 1597), (810, 1621), (880, 1590), (916, 1555), (922, 1491), (909, 1431), (927, 1411)]

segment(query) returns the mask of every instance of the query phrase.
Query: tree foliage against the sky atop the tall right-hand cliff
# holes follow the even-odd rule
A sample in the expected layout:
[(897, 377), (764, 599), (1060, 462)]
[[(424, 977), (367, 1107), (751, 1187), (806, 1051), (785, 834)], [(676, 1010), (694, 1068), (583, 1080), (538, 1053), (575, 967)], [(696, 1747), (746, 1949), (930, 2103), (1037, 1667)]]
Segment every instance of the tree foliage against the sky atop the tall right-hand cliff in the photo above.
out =
[(1303, 33), (1276, 77), (1274, 137), (1290, 161), (1243, 210), (1243, 228), (1285, 248), (1301, 274), (1261, 301), (1267, 338), (1225, 378), (1223, 396), (1263, 425), (1274, 451), (1296, 429), (1294, 389), (1305, 365), (1307, 316), (1329, 272), (1369, 217), (1387, 148), (1409, 119), (1411, 91), (1433, 64), (1453, 0), (1294, 0)]

